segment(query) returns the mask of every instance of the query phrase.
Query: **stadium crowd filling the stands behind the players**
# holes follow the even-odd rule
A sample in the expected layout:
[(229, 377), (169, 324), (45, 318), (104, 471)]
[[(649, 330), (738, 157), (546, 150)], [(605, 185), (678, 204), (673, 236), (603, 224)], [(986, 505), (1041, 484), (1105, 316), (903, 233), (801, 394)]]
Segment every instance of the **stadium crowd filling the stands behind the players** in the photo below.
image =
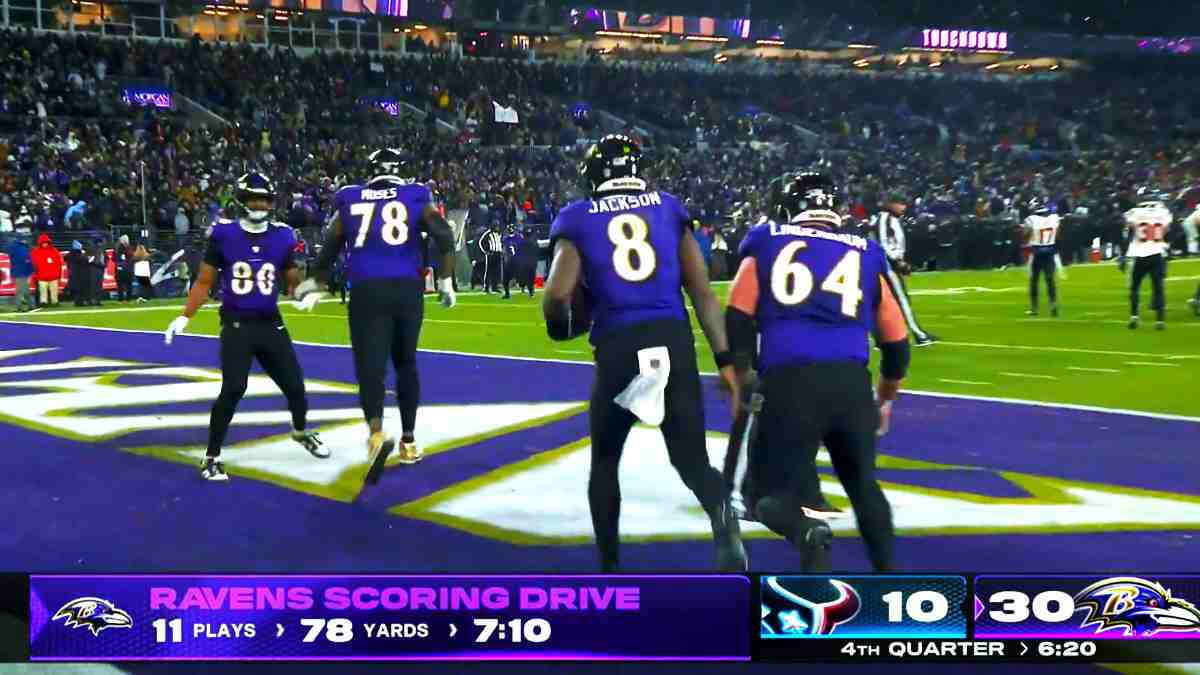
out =
[[(414, 58), (101, 40), (31, 31), (0, 40), (0, 228), (132, 228), (194, 237), (229, 207), (238, 175), (280, 189), (281, 217), (317, 226), (332, 191), (395, 145), (476, 227), (546, 225), (580, 195), (580, 144), (601, 109), (649, 147), (655, 184), (703, 223), (737, 231), (763, 186), (823, 166), (864, 221), (901, 192), (930, 246), (972, 222), (1014, 223), (1033, 196), (1075, 214), (1075, 244), (1118, 239), (1138, 186), (1182, 195), (1200, 166), (1200, 96), (1188, 72), (1110, 64), (1046, 78), (692, 61), (583, 62)], [(922, 68), (925, 71), (925, 68)], [(131, 110), (128, 82), (164, 83), (229, 124)], [(389, 115), (394, 97), (430, 113)], [(587, 106), (578, 102), (586, 101)], [(493, 102), (520, 123), (492, 119)], [(583, 112), (581, 112), (583, 110)], [(438, 121), (451, 126), (440, 125)], [(449, 132), (449, 129), (456, 131)], [(1186, 208), (1195, 203), (1186, 195)], [(2, 216), (4, 214), (0, 214)], [(966, 223), (966, 225), (964, 225)], [(1010, 229), (1010, 228), (1009, 228)], [(983, 239), (1009, 237), (980, 229)], [(1064, 234), (1069, 238), (1069, 232)], [(918, 244), (919, 246), (919, 244)], [(1078, 247), (1078, 246), (1076, 246)], [(1012, 249), (1012, 247), (1009, 247)], [(943, 264), (992, 264), (952, 259)]]

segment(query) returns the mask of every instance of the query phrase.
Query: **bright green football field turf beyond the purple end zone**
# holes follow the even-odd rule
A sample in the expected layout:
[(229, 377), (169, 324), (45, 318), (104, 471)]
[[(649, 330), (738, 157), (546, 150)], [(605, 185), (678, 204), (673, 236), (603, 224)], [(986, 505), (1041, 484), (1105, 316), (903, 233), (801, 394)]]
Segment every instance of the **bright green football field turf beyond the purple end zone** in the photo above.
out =
[[(911, 277), (917, 315), (926, 330), (942, 338), (914, 351), (906, 387), (978, 396), (1067, 402), (1200, 417), (1195, 394), (1200, 374), (1200, 318), (1187, 299), (1200, 281), (1200, 259), (1170, 263), (1166, 282), (1168, 329), (1153, 330), (1150, 287), (1142, 288), (1142, 325), (1126, 327), (1127, 277), (1111, 264), (1068, 268), (1060, 282), (1062, 315), (1050, 318), (1043, 298), (1039, 317), (1026, 317), (1027, 271), (926, 273)], [(725, 285), (715, 286), (724, 298)], [(32, 315), (5, 313), (11, 321), (162, 330), (181, 300), (152, 305), (107, 303), (102, 309), (62, 306)], [(427, 298), (421, 347), (481, 354), (589, 360), (586, 339), (552, 342), (541, 323), (541, 294), (462, 293), (458, 306), (444, 310)], [(323, 301), (312, 315), (284, 303), (284, 317), (296, 340), (347, 344), (346, 307)], [(215, 306), (204, 309), (190, 333), (217, 330)], [(2, 327), (0, 327), (2, 334)], [(703, 335), (696, 333), (701, 368), (714, 370)], [(2, 344), (2, 338), (0, 338)]]

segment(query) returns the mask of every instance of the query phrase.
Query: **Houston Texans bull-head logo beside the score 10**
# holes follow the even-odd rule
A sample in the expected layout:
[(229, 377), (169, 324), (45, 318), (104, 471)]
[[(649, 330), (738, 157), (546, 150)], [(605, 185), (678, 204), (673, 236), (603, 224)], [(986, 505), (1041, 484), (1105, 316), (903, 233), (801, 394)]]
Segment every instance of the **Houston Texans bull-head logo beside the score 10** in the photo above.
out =
[(778, 577), (763, 577), (762, 583), (760, 622), (764, 635), (829, 635), (854, 619), (863, 605), (858, 591), (838, 579), (829, 580), (838, 597), (820, 603), (788, 591)]

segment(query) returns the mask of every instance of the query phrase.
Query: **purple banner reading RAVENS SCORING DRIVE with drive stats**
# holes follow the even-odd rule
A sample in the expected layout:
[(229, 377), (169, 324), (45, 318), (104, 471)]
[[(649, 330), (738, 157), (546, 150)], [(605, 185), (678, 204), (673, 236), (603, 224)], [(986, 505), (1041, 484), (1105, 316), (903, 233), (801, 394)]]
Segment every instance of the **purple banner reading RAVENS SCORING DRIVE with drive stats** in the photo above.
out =
[(739, 575), (34, 575), (31, 661), (749, 661)]

